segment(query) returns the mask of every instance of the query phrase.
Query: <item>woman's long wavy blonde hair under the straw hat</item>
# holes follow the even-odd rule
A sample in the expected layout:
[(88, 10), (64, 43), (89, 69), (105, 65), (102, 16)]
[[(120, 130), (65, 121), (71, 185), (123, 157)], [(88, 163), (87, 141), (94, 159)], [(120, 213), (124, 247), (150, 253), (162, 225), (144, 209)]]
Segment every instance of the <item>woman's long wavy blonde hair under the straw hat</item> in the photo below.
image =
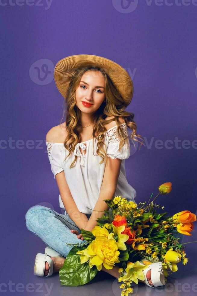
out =
[[(140, 144), (140, 147), (141, 147), (144, 140), (142, 136), (136, 133), (137, 127), (136, 127), (135, 121), (133, 120), (134, 114), (131, 112), (125, 111), (126, 105), (125, 105), (124, 99), (115, 88), (113, 82), (111, 81), (110, 77), (107, 75), (105, 70), (94, 67), (94, 66), (82, 67), (73, 74), (73, 77), (70, 80), (70, 84), (67, 89), (66, 98), (64, 99), (64, 103), (63, 103), (64, 110), (63, 110), (61, 123), (63, 120), (66, 122), (65, 127), (67, 130), (67, 137), (65, 138), (65, 141), (64, 141), (64, 147), (69, 151), (64, 161), (67, 159), (67, 157), (70, 156), (71, 152), (74, 152), (74, 149), (77, 143), (81, 142), (81, 136), (80, 136), (81, 127), (79, 126), (81, 111), (76, 105), (75, 91), (80, 84), (81, 77), (86, 71), (100, 71), (102, 72), (102, 75), (105, 79), (104, 87), (105, 87), (106, 102), (102, 102), (99, 109), (95, 111), (95, 113), (92, 115), (92, 118), (91, 118), (91, 123), (93, 125), (93, 133), (92, 133), (93, 145), (94, 145), (94, 139), (96, 138), (98, 140), (96, 156), (99, 155), (102, 157), (102, 160), (99, 162), (99, 164), (101, 164), (104, 161), (107, 162), (106, 145), (103, 142), (104, 133), (107, 131), (105, 124), (108, 124), (111, 121), (115, 120), (117, 124), (117, 132), (120, 137), (119, 151), (124, 146), (126, 139), (123, 131), (120, 128), (120, 122), (118, 120), (118, 117), (124, 118), (124, 121), (127, 124), (127, 127), (129, 127), (132, 130), (132, 134), (129, 136), (129, 141), (130, 140), (132, 140), (132, 142), (137, 141), (141, 143)], [(105, 120), (106, 117), (111, 117), (111, 116), (113, 116), (113, 118), (109, 120)], [(97, 132), (98, 136), (95, 135), (95, 132)], [(141, 139), (142, 142), (140, 142), (138, 138)], [(133, 142), (133, 145), (135, 146), (134, 142)], [(93, 146), (93, 151), (94, 151), (94, 146)], [(75, 158), (70, 165), (70, 169), (73, 167), (76, 160), (77, 160), (77, 156), (75, 155)]]

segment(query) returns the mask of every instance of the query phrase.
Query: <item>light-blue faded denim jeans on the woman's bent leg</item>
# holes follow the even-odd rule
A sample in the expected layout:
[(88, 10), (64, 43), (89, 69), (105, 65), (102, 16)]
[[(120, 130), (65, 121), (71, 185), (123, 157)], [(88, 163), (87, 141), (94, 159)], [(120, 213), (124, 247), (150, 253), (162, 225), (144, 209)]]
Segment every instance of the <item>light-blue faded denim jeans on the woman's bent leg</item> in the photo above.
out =
[[(86, 214), (86, 216), (89, 219), (91, 214)], [(64, 257), (67, 257), (73, 248), (66, 243), (77, 244), (77, 246), (87, 243), (86, 240), (78, 239), (77, 235), (70, 231), (74, 229), (81, 233), (68, 214), (59, 214), (51, 208), (36, 205), (27, 211), (25, 219), (28, 230)]]

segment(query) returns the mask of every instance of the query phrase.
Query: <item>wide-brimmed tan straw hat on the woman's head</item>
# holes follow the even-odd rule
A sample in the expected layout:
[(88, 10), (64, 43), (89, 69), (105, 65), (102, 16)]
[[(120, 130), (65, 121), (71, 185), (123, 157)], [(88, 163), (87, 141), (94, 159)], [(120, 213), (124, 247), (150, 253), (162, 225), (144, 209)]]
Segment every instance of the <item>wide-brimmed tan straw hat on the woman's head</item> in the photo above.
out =
[(128, 72), (117, 63), (102, 56), (78, 54), (67, 56), (55, 65), (55, 84), (63, 97), (66, 97), (67, 88), (74, 73), (81, 67), (95, 66), (104, 69), (114, 83), (117, 91), (128, 106), (133, 97), (133, 82)]

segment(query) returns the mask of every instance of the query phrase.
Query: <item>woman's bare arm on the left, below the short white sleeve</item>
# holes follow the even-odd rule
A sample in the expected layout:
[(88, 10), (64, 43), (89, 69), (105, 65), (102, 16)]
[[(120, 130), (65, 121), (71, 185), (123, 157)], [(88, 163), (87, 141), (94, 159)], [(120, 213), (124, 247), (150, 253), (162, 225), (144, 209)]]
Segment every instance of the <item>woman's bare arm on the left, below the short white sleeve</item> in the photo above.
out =
[(64, 204), (64, 208), (67, 211), (68, 215), (70, 218), (74, 221), (74, 223), (77, 225), (77, 227), (85, 228), (87, 222), (88, 222), (88, 217), (86, 214), (80, 212), (77, 208), (77, 205), (71, 195), (70, 189), (68, 187), (64, 171), (58, 173), (55, 176), (55, 179), (58, 184), (58, 188), (60, 191), (61, 195), (61, 200)]

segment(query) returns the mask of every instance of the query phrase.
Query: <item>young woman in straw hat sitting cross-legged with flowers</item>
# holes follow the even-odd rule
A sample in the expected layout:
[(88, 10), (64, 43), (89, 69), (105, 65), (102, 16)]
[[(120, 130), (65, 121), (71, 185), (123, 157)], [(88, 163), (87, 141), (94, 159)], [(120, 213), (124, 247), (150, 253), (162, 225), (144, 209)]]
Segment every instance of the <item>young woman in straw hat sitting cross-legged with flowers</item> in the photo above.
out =
[[(136, 191), (127, 182), (124, 162), (130, 156), (130, 140), (143, 143), (134, 114), (125, 111), (133, 83), (120, 65), (100, 56), (69, 56), (57, 63), (54, 78), (66, 108), (64, 122), (48, 131), (46, 145), (65, 213), (38, 205), (26, 213), (28, 230), (48, 245), (34, 265), (34, 274), (44, 277), (62, 267), (72, 249), (66, 243), (83, 245), (81, 229), (91, 231), (109, 209), (104, 199), (122, 195), (134, 201)], [(102, 270), (115, 278), (120, 275), (118, 266)], [(160, 272), (157, 286), (165, 283)], [(151, 268), (145, 278), (153, 287)]]

